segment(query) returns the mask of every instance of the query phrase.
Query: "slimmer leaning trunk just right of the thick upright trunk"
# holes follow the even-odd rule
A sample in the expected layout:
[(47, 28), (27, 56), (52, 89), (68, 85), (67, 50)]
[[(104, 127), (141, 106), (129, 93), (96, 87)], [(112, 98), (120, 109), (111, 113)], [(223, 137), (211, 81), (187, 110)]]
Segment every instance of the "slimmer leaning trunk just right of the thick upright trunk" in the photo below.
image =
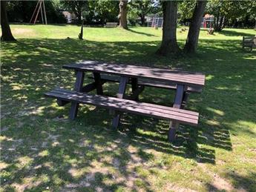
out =
[(188, 37), (184, 47), (186, 53), (195, 53), (197, 50), (198, 37), (200, 33), (200, 26), (202, 23), (203, 13), (206, 10), (207, 1), (197, 1), (194, 7), (194, 13), (188, 30)]

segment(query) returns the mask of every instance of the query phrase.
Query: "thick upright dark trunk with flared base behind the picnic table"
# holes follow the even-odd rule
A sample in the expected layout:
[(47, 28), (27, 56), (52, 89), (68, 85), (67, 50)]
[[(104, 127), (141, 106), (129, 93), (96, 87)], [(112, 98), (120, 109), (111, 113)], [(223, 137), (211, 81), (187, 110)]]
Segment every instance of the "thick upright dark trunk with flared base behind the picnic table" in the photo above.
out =
[(163, 1), (163, 38), (157, 54), (167, 56), (180, 52), (177, 44), (177, 1)]

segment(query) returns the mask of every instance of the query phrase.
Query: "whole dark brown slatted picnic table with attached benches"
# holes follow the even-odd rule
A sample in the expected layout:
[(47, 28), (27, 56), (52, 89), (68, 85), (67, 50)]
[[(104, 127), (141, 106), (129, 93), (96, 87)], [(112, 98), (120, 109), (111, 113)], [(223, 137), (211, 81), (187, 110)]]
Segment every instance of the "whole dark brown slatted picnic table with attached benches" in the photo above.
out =
[[(95, 105), (110, 109), (114, 113), (112, 125), (117, 128), (123, 112), (151, 116), (170, 120), (168, 140), (173, 142), (180, 123), (197, 125), (199, 113), (184, 110), (188, 95), (200, 93), (205, 84), (205, 76), (201, 73), (190, 73), (181, 70), (166, 70), (152, 67), (141, 67), (125, 64), (110, 64), (96, 61), (83, 61), (76, 64), (65, 64), (65, 69), (75, 70), (76, 82), (74, 90), (56, 88), (45, 96), (57, 99), (58, 105), (71, 102), (70, 119), (75, 119), (79, 104)], [(91, 72), (92, 83), (83, 85), (85, 72)], [(104, 96), (102, 85), (105, 82), (119, 82), (116, 97)], [(126, 85), (131, 84), (131, 96), (125, 95)], [(172, 107), (139, 102), (138, 96), (145, 86), (175, 90)], [(90, 94), (96, 90), (96, 95)]]

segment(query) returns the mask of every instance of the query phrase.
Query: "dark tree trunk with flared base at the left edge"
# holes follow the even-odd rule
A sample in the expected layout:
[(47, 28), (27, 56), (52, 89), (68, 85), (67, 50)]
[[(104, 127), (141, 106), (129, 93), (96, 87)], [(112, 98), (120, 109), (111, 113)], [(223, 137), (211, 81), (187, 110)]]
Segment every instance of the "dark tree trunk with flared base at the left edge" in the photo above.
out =
[(7, 18), (6, 12), (6, 1), (1, 1), (1, 41), (16, 41), (14, 39), (12, 32), (10, 31), (10, 26)]

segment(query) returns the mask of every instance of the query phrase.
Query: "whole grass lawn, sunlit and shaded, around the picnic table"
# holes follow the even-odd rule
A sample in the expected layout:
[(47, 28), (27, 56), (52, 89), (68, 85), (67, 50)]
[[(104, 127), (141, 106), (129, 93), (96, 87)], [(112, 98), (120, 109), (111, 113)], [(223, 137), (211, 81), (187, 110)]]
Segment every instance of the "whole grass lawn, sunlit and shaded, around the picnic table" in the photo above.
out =
[[(154, 54), (160, 29), (89, 27), (84, 41), (77, 26), (11, 29), (18, 42), (1, 42), (1, 191), (255, 191), (256, 55), (240, 45), (255, 30), (202, 30), (196, 56), (166, 59)], [(178, 29), (180, 46), (186, 33)], [(88, 105), (68, 120), (70, 105), (43, 93), (72, 88), (62, 65), (81, 59), (205, 73), (188, 102), (200, 125), (181, 126), (171, 145), (165, 120), (125, 114), (114, 131), (108, 110)], [(114, 96), (117, 85), (104, 89)], [(140, 100), (170, 106), (173, 96), (145, 88)]]

